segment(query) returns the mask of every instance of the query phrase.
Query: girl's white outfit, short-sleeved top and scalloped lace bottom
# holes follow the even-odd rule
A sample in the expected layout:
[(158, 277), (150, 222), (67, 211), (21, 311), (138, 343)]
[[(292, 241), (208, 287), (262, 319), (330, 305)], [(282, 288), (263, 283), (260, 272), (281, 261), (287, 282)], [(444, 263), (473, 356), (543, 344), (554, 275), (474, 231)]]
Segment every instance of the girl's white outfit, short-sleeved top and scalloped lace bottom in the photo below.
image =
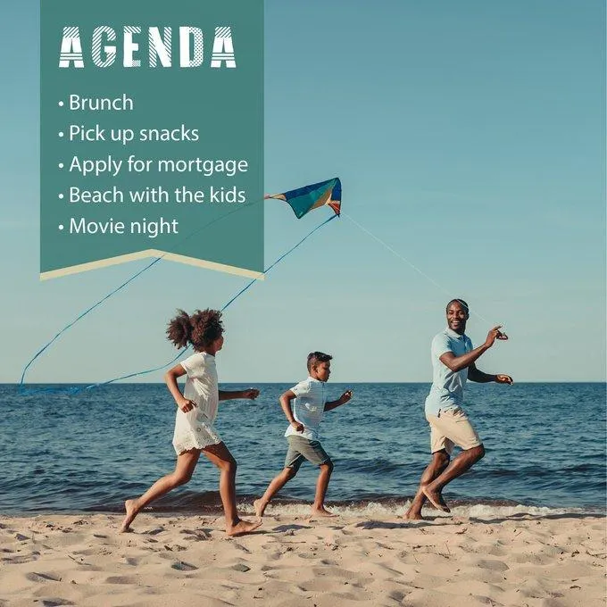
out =
[(198, 352), (181, 361), (181, 366), (187, 373), (183, 395), (196, 403), (196, 406), (187, 413), (179, 407), (177, 409), (173, 447), (178, 455), (190, 449), (204, 449), (221, 442), (220, 435), (213, 428), (219, 406), (215, 357), (206, 352)]

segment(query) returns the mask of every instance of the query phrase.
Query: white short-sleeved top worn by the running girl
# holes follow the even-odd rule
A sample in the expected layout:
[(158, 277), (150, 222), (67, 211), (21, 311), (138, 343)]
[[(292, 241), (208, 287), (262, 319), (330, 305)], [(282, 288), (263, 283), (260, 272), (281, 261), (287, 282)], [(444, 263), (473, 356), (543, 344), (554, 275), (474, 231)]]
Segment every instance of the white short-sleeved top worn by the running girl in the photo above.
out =
[(180, 364), (187, 372), (184, 397), (194, 401), (196, 413), (204, 414), (212, 423), (217, 417), (220, 400), (215, 357), (206, 352), (197, 352)]

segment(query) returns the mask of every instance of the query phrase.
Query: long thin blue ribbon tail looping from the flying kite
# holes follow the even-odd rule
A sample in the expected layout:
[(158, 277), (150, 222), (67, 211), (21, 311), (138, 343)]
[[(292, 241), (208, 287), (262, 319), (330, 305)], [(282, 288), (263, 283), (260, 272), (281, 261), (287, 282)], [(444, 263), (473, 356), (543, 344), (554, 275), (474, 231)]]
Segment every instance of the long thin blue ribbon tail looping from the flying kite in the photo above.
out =
[[(329, 221), (334, 220), (336, 217), (338, 217), (338, 215), (331, 215), (331, 217), (329, 217), (328, 220), (324, 220), (322, 223), (320, 223), (318, 226), (316, 226), (316, 228), (312, 229), (312, 231), (309, 232), (306, 236), (304, 236), (295, 246), (292, 246), (287, 251), (287, 253), (284, 253), (284, 254), (280, 255), (280, 257), (275, 262), (273, 262), (266, 270), (263, 270), (262, 275), (265, 276), (274, 266), (276, 266), (279, 262), (281, 262), (283, 259), (285, 259), (285, 257), (287, 257), (288, 254), (293, 253), (293, 251), (295, 251), (295, 249), (299, 245), (302, 245), (305, 240), (307, 240), (309, 237), (311, 237), (312, 234), (315, 231), (317, 231), (318, 229), (322, 228), (324, 225), (328, 224)], [(177, 354), (177, 356), (175, 356), (175, 358), (171, 359), (169, 362), (163, 364), (160, 367), (154, 367), (154, 369), (148, 369), (148, 370), (144, 370), (144, 371), (137, 371), (137, 373), (129, 373), (129, 375), (123, 375), (120, 378), (113, 378), (113, 379), (110, 379), (108, 381), (104, 381), (104, 382), (101, 382), (101, 383), (98, 383), (98, 384), (90, 384), (89, 386), (67, 387), (67, 388), (37, 388), (37, 389), (33, 389), (33, 390), (29, 390), (29, 389), (26, 389), (25, 387), (23, 387), (23, 378), (25, 377), (25, 372), (28, 370), (28, 368), (31, 365), (31, 363), (34, 362), (37, 359), (37, 357), (41, 353), (43, 353), (49, 345), (51, 345), (54, 342), (55, 339), (57, 339), (58, 337), (60, 337), (64, 331), (66, 331), (68, 328), (70, 328), (73, 324), (75, 324), (79, 319), (81, 319), (83, 316), (85, 316), (88, 312), (91, 312), (98, 305), (100, 305), (101, 303), (103, 303), (108, 297), (112, 296), (114, 293), (116, 293), (117, 291), (119, 291), (122, 287), (126, 287), (126, 285), (128, 285), (131, 280), (136, 279), (139, 274), (141, 274), (142, 272), (146, 271), (149, 267), (151, 267), (152, 265), (154, 265), (154, 263), (160, 262), (161, 259), (162, 259), (161, 257), (158, 257), (157, 259), (155, 259), (154, 262), (152, 262), (149, 265), (147, 265), (146, 268), (144, 268), (143, 270), (137, 272), (137, 274), (135, 276), (131, 277), (129, 280), (127, 280), (126, 282), (124, 282), (120, 287), (114, 289), (112, 291), (112, 293), (110, 293), (108, 295), (105, 295), (105, 297), (102, 300), (98, 301), (95, 305), (91, 306), (86, 312), (82, 312), (82, 314), (80, 314), (79, 317), (76, 320), (74, 320), (69, 325), (67, 325), (67, 327), (62, 328), (62, 330), (59, 333), (57, 333), (57, 335), (50, 342), (48, 342), (48, 344), (46, 344), (34, 356), (34, 358), (31, 359), (31, 361), (29, 361), (29, 363), (27, 364), (27, 366), (23, 370), (23, 373), (21, 374), (21, 381), (20, 381), (20, 384), (19, 384), (20, 393), (21, 394), (25, 394), (25, 395), (32, 395), (32, 394), (37, 394), (39, 392), (46, 392), (46, 393), (47, 392), (54, 392), (54, 393), (72, 394), (73, 395), (73, 394), (77, 394), (78, 392), (81, 392), (82, 390), (90, 390), (90, 389), (92, 389), (94, 387), (107, 386), (109, 384), (113, 384), (116, 381), (121, 381), (121, 379), (135, 378), (135, 377), (140, 376), (140, 375), (147, 375), (148, 373), (153, 373), (154, 371), (165, 369), (171, 363), (176, 362), (179, 358), (181, 358), (181, 356), (183, 356), (183, 354), (186, 353), (187, 350), (189, 350), (191, 346), (188, 345), (183, 350), (179, 350), (179, 353)], [(253, 279), (248, 285), (246, 285), (245, 288), (240, 289), (240, 291), (238, 291), (238, 293), (236, 295), (234, 295), (229, 300), (229, 302), (226, 303), (221, 308), (221, 312), (223, 312), (226, 308), (228, 308), (228, 306), (231, 303), (235, 302), (237, 300), (237, 298), (240, 297), (240, 295), (243, 295), (243, 293), (245, 293), (245, 291), (249, 287), (252, 287), (253, 284), (255, 282), (257, 282), (257, 280), (258, 279)]]

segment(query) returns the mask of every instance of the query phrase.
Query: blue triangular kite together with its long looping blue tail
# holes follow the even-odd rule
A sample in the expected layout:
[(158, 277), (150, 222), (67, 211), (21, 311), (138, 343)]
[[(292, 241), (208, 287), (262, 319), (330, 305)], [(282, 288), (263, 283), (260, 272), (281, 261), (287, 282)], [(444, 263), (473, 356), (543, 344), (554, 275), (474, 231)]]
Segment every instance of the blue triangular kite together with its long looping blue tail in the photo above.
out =
[[(301, 219), (303, 217), (303, 215), (305, 215), (306, 213), (311, 212), (313, 209), (318, 209), (321, 206), (330, 207), (333, 210), (334, 214), (331, 215), (328, 218), (328, 220), (322, 221), (322, 223), (320, 223), (318, 226), (316, 226), (316, 228), (312, 229), (312, 231), (310, 231), (305, 237), (303, 237), (296, 245), (292, 246), (286, 253), (280, 255), (279, 259), (277, 259), (275, 262), (273, 262), (268, 268), (263, 270), (262, 275), (265, 276), (275, 265), (277, 265), (285, 257), (287, 257), (288, 254), (295, 251), (295, 249), (299, 245), (301, 245), (304, 240), (307, 240), (309, 237), (311, 237), (312, 234), (316, 230), (322, 228), (322, 226), (326, 225), (330, 220), (334, 220), (336, 217), (339, 217), (339, 214), (341, 212), (341, 196), (342, 196), (341, 180), (338, 177), (334, 177), (333, 179), (328, 179), (326, 181), (320, 181), (319, 183), (314, 183), (310, 186), (299, 187), (297, 189), (289, 190), (288, 192), (283, 192), (281, 194), (265, 195), (263, 197), (264, 200), (267, 200), (269, 198), (274, 198), (274, 199), (282, 200), (282, 201), (286, 202), (293, 209), (293, 212), (295, 212), (295, 216), (297, 217), (297, 219)], [(262, 202), (262, 201), (259, 201), (259, 202)], [(231, 213), (229, 213), (229, 214), (231, 214)], [(204, 226), (203, 226), (203, 228), (204, 228)], [(200, 228), (195, 231), (196, 232), (200, 231)], [(190, 236), (192, 236), (192, 235), (190, 235)], [(97, 306), (101, 305), (101, 303), (104, 303), (104, 301), (106, 299), (109, 299), (112, 295), (115, 295), (116, 293), (118, 293), (118, 291), (120, 291), (123, 287), (126, 287), (132, 280), (137, 279), (138, 276), (143, 274), (146, 270), (149, 270), (155, 263), (160, 262), (161, 260), (162, 260), (162, 257), (157, 257), (156, 259), (154, 259), (153, 262), (149, 263), (143, 270), (139, 270), (136, 274), (134, 274), (128, 280), (123, 282), (120, 287), (116, 287), (108, 295), (104, 295), (104, 297), (102, 297), (98, 302), (91, 305), (85, 312), (82, 312), (81, 314), (79, 314), (79, 316), (77, 316), (75, 320), (72, 320), (71, 323), (69, 323), (64, 328), (62, 328), (61, 331), (59, 331), (59, 333), (57, 333), (57, 335), (55, 335), (53, 337), (53, 339), (51, 339), (48, 343), (46, 343), (46, 345), (42, 346), (42, 348), (40, 348), (37, 351), (37, 353), (28, 362), (28, 364), (25, 365), (25, 367), (21, 373), (21, 380), (19, 382), (19, 388), (20, 388), (21, 394), (23, 394), (23, 393), (35, 394), (37, 392), (60, 392), (60, 393), (67, 393), (67, 394), (76, 394), (77, 392), (80, 392), (81, 390), (88, 390), (93, 387), (106, 386), (107, 384), (112, 384), (113, 382), (120, 381), (121, 379), (134, 378), (139, 375), (146, 375), (147, 373), (151, 373), (153, 371), (162, 370), (162, 369), (168, 367), (171, 363), (173, 363), (173, 362), (177, 361), (179, 358), (181, 358), (181, 356), (183, 356), (184, 352), (187, 351), (189, 346), (185, 350), (180, 350), (179, 354), (175, 358), (173, 358), (170, 362), (167, 362), (166, 364), (163, 364), (160, 367), (154, 367), (154, 369), (148, 369), (148, 370), (144, 370), (144, 371), (137, 371), (137, 373), (129, 373), (129, 375), (123, 375), (120, 378), (113, 378), (113, 379), (110, 379), (109, 381), (104, 381), (104, 382), (97, 383), (97, 384), (91, 384), (90, 386), (70, 387), (70, 388), (37, 388), (37, 389), (33, 389), (33, 390), (32, 389), (26, 390), (24, 387), (25, 386), (24, 380), (25, 380), (25, 375), (26, 375), (27, 370), (29, 369), (31, 364), (37, 359), (37, 357), (40, 356), (40, 354), (42, 354), (43, 352), (45, 352), (46, 349), (50, 345), (52, 345), (56, 339), (61, 337), (62, 334), (65, 333), (65, 331), (67, 331), (69, 328), (73, 327), (79, 320), (84, 318), (89, 312), (92, 312), (93, 310), (95, 310), (95, 308)], [(240, 295), (245, 293), (245, 291), (249, 287), (251, 287), (257, 280), (258, 279), (253, 279), (248, 285), (246, 285), (246, 287), (244, 287), (240, 291), (238, 291), (238, 293), (236, 295), (234, 295), (229, 300), (229, 302), (226, 303), (221, 308), (221, 312), (223, 312)]]

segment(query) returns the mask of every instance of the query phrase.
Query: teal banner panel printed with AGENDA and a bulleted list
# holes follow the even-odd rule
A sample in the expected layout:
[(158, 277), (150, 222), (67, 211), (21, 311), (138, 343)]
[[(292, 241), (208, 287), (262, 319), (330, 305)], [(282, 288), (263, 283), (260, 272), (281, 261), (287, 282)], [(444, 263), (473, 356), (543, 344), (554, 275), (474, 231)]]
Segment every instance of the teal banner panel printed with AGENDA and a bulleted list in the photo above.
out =
[(263, 1), (40, 8), (41, 273), (148, 250), (261, 272)]

